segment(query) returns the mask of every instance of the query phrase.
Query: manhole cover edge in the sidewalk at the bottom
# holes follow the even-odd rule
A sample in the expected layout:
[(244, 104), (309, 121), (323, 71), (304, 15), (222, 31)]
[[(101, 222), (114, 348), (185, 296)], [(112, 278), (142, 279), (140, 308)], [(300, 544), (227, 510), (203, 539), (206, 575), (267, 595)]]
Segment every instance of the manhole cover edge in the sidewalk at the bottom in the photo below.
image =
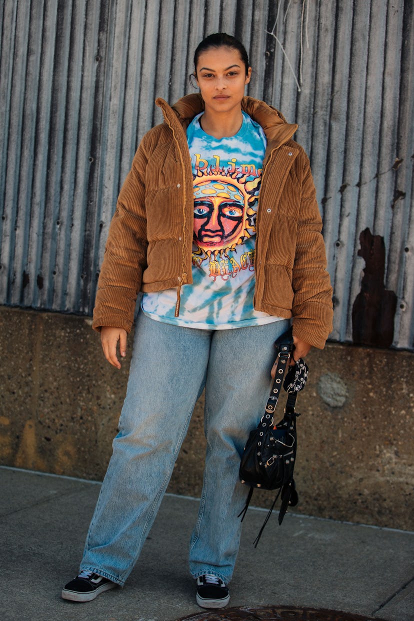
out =
[(197, 612), (177, 621), (384, 621), (339, 610), (320, 610), (295, 606), (261, 606), (259, 608), (226, 608)]

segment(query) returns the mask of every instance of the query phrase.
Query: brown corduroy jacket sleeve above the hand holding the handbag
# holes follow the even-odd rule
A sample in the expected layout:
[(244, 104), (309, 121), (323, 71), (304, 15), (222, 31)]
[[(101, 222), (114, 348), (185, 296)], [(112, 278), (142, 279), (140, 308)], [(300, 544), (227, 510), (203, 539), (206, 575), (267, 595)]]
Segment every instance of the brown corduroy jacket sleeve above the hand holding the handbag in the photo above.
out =
[(303, 150), (302, 155), (305, 164), (292, 273), (292, 325), (297, 338), (322, 349), (332, 330), (332, 288), (326, 271), (322, 218), (316, 201), (315, 184)]

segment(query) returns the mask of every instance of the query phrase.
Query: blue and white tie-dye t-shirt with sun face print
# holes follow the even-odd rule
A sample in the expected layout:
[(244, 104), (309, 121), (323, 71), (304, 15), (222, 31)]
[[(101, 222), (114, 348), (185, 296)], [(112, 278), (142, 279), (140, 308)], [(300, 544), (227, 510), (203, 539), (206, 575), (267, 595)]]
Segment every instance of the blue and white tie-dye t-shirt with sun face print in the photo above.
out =
[(228, 329), (277, 321), (254, 311), (254, 241), (266, 137), (243, 112), (239, 132), (218, 140), (196, 116), (187, 128), (194, 177), (192, 284), (146, 293), (143, 311), (153, 319), (201, 329)]

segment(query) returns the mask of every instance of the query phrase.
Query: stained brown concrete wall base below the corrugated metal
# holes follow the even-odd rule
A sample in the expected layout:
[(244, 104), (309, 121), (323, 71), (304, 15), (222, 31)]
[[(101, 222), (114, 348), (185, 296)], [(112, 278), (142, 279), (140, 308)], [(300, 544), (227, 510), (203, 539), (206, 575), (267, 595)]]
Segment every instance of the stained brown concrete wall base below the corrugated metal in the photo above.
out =
[[(110, 367), (88, 318), (9, 307), (0, 307), (0, 345), (0, 463), (102, 479), (129, 358)], [(413, 530), (413, 354), (328, 343), (308, 363), (297, 511)], [(199, 496), (204, 450), (200, 399), (170, 492)], [(255, 491), (253, 504), (271, 499)]]

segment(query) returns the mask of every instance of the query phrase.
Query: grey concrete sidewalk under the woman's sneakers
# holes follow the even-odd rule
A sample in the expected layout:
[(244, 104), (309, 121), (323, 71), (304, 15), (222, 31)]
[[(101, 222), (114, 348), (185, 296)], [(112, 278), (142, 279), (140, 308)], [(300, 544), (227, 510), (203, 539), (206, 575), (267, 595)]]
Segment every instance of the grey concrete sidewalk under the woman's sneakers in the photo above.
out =
[[(127, 586), (60, 599), (78, 571), (99, 484), (0, 467), (2, 621), (173, 621), (201, 612), (187, 569), (198, 502), (166, 496)], [(253, 497), (254, 500), (254, 497)], [(270, 495), (269, 495), (270, 500)], [(414, 621), (414, 533), (249, 509), (230, 606), (307, 606)]]

